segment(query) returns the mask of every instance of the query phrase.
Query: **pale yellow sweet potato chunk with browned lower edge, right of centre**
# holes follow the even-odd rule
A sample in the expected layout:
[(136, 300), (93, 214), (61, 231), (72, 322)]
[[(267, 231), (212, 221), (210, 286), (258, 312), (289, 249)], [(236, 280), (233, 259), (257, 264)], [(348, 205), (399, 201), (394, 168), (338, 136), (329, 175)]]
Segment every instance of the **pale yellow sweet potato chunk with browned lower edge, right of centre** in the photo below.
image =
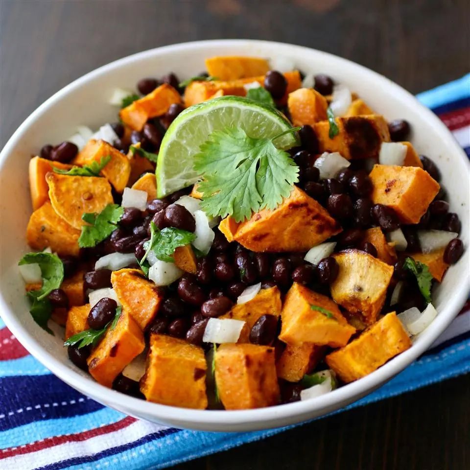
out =
[(374, 323), (383, 306), (393, 266), (360, 250), (345, 250), (332, 255), (339, 274), (331, 283), (331, 297), (367, 325)]

